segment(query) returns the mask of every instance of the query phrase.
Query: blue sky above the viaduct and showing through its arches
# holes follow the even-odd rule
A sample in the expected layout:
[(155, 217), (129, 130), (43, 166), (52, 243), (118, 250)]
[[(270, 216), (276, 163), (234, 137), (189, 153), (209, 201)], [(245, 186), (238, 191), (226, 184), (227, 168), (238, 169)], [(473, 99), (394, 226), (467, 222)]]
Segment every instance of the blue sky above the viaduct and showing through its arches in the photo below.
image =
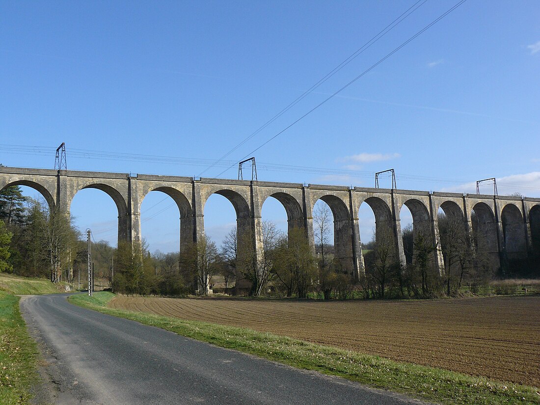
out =
[[(418, 3), (226, 160), (247, 156), (456, 2)], [(0, 163), (52, 168), (50, 149), (65, 142), (72, 170), (216, 177), (223, 168), (84, 151), (219, 159), (414, 3), (0, 1), (0, 144), (41, 147), (5, 147)], [(372, 186), (370, 172), (393, 167), (399, 188), (474, 192), (471, 183), (496, 177), (500, 194), (540, 197), (539, 72), (540, 3), (468, 0), (258, 150), (259, 179)], [(237, 166), (221, 175), (236, 176)], [(164, 197), (143, 202), (143, 235), (151, 250), (172, 251), (178, 212)], [(263, 209), (285, 224), (279, 203)], [(107, 195), (80, 192), (72, 213), (116, 244)], [(207, 232), (219, 243), (234, 221), (214, 195)]]

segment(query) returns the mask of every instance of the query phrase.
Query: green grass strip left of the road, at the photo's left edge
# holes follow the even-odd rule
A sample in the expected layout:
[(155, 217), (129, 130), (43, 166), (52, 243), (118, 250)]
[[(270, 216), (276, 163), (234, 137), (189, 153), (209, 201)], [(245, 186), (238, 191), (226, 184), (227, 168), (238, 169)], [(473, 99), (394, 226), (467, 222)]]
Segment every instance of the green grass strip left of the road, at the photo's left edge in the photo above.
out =
[(28, 404), (37, 383), (38, 349), (19, 312), (19, 297), (0, 291), (0, 403)]

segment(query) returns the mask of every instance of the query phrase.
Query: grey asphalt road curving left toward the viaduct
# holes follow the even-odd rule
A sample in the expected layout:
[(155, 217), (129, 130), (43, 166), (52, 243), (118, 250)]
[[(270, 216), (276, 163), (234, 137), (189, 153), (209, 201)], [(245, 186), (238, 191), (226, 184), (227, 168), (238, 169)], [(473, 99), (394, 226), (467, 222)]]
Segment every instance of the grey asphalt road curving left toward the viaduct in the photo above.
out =
[(38, 390), (38, 402), (419, 403), (80, 308), (65, 294), (30, 296), (21, 308), (44, 352), (42, 375), (53, 382)]

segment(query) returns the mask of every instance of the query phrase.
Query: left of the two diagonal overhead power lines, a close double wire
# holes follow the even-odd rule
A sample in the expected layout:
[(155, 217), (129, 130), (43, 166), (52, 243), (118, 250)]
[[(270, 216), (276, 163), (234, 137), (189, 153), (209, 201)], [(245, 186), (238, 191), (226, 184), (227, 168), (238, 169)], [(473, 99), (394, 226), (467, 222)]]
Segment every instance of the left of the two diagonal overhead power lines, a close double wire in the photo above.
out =
[[(335, 73), (338, 73), (341, 69), (345, 68), (350, 62), (352, 62), (356, 57), (360, 56), (365, 50), (370, 48), (375, 42), (377, 42), (379, 39), (381, 39), (383, 36), (385, 36), (388, 32), (392, 31), (396, 25), (401, 23), (404, 19), (406, 19), (408, 16), (413, 14), (417, 9), (419, 9), (424, 3), (426, 3), (428, 0), (418, 0), (416, 3), (411, 5), (406, 11), (404, 11), (399, 17), (397, 17), (393, 22), (388, 24), (386, 27), (384, 27), (377, 35), (375, 35), (373, 38), (368, 40), (365, 44), (361, 46), (361, 48), (357, 49), (352, 55), (350, 55), (347, 59), (343, 60), (338, 66), (336, 66), (334, 69), (332, 69), (330, 72), (326, 74), (322, 79), (320, 79), (317, 83), (315, 83), (313, 86), (309, 87), (305, 92), (303, 92), (298, 98), (296, 98), (292, 103), (289, 103), (283, 110), (275, 114), (271, 119), (269, 119), (265, 124), (260, 126), (255, 132), (253, 132), (251, 135), (249, 135), (244, 140), (240, 141), (239, 144), (234, 146), (230, 151), (225, 153), (221, 158), (219, 158), (215, 164), (211, 164), (208, 166), (204, 171), (202, 171), (199, 174), (200, 176), (203, 176), (204, 173), (206, 173), (208, 170), (210, 170), (212, 167), (216, 166), (220, 161), (225, 159), (227, 156), (229, 156), (232, 152), (237, 150), (240, 146), (244, 145), (248, 140), (252, 139), (255, 135), (257, 135), (259, 132), (264, 130), (268, 125), (272, 124), (276, 119), (281, 117), (283, 114), (285, 114), (287, 111), (289, 111), (292, 107), (294, 107), (296, 104), (301, 102), (304, 98), (309, 96), (315, 89), (317, 89), (321, 84), (325, 83), (330, 77), (334, 76)], [(419, 4), (421, 3), (421, 4)]]

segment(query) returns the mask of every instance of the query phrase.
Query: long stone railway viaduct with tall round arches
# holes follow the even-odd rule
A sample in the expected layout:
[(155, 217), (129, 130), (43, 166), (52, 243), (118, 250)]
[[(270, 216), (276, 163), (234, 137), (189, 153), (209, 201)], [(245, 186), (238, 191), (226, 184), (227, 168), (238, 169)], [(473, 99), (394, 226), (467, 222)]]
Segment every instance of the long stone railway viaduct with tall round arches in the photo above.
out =
[[(262, 247), (261, 207), (268, 197), (274, 197), (285, 207), (289, 231), (303, 228), (314, 249), (312, 213), (314, 204), (321, 199), (334, 217), (335, 257), (355, 278), (364, 272), (358, 223), (362, 203), (368, 204), (375, 214), (375, 238), (385, 233), (392, 235), (402, 264), (406, 262), (400, 225), (403, 205), (413, 216), (413, 233), (429, 235), (436, 252), (433, 264), (441, 274), (439, 208), (448, 217), (462, 221), (468, 232), (476, 228), (485, 241), (479, 249), (489, 255), (494, 267), (500, 265), (501, 257), (523, 259), (540, 254), (539, 198), (0, 167), (0, 190), (12, 185), (34, 188), (51, 208), (65, 213), (69, 213), (71, 201), (79, 190), (102, 190), (118, 208), (118, 240), (132, 243), (141, 239), (140, 206), (145, 195), (154, 190), (163, 192), (178, 206), (180, 250), (204, 234), (204, 207), (213, 193), (231, 201), (237, 214), (238, 234), (249, 233), (255, 252), (260, 252)], [(474, 223), (473, 211), (477, 218)]]

